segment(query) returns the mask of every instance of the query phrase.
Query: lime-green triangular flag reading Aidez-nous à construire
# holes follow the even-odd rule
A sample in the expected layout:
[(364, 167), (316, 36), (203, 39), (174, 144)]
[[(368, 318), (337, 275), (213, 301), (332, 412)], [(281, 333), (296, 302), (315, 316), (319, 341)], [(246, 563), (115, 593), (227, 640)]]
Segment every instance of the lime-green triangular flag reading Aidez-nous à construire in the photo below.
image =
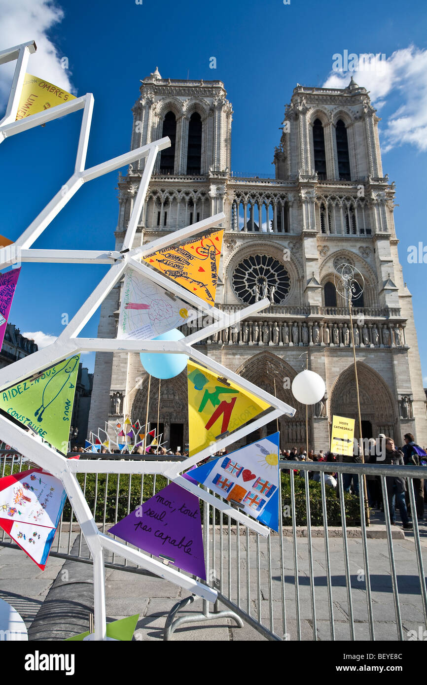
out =
[(80, 355), (0, 393), (0, 409), (66, 454)]

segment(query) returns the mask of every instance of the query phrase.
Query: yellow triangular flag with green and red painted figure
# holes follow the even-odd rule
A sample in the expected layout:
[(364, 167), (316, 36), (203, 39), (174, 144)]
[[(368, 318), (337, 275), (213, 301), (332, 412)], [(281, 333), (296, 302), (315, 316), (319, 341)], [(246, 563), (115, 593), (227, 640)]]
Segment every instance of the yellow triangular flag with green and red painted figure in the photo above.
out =
[(193, 456), (224, 433), (254, 419), (269, 404), (225, 378), (188, 362), (188, 438)]

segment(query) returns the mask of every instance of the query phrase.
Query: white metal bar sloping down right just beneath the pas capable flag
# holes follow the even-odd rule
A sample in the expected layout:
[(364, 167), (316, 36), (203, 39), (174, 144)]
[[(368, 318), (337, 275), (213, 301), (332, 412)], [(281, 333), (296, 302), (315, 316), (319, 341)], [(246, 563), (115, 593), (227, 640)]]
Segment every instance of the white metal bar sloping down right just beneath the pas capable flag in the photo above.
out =
[(191, 576), (184, 575), (184, 573), (180, 573), (179, 571), (175, 571), (175, 569), (173, 569), (171, 566), (166, 566), (165, 564), (158, 562), (156, 559), (151, 559), (151, 557), (147, 556), (141, 551), (138, 551), (137, 549), (125, 547), (117, 540), (113, 540), (103, 533), (99, 533), (99, 537), (101, 538), (101, 544), (104, 549), (109, 549), (119, 556), (125, 556), (125, 558), (134, 562), (134, 564), (143, 566), (143, 568), (147, 569), (147, 571), (155, 573), (156, 575), (160, 576), (160, 578), (164, 578), (164, 580), (170, 580), (172, 583), (175, 583), (175, 585), (179, 585), (180, 587), (189, 590), (191, 593), (194, 593), (195, 595), (198, 595), (207, 601), (215, 602), (217, 599), (217, 590), (213, 590), (208, 585), (202, 585), (202, 583), (199, 583), (197, 580), (193, 580)]

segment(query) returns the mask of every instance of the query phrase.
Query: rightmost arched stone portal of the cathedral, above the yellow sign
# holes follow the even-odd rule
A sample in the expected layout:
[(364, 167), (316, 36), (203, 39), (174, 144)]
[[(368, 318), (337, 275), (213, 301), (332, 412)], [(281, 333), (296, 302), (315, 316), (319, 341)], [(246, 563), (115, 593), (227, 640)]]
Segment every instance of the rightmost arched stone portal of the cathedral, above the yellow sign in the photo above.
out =
[[(371, 425), (371, 436), (363, 435), (363, 437), (376, 437), (378, 434), (384, 433), (396, 440), (398, 438), (398, 408), (385, 380), (363, 362), (357, 362), (357, 377), (362, 427), (363, 425), (366, 426), (365, 432), (369, 430), (369, 424)], [(331, 420), (334, 414), (356, 420), (354, 431), (357, 438), (358, 415), (353, 364), (339, 375), (330, 393), (329, 415)]]

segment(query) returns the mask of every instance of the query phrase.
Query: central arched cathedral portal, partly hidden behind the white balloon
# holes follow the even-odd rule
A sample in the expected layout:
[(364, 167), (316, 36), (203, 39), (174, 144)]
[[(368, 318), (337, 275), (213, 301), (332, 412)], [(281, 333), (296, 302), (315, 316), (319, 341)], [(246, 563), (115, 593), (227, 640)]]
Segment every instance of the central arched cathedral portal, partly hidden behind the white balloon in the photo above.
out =
[[(292, 381), (297, 375), (290, 364), (280, 359), (271, 352), (260, 352), (249, 358), (247, 362), (239, 366), (236, 373), (246, 378), (254, 385), (267, 390), (271, 395), (275, 394), (274, 380), (276, 379), (276, 397), (289, 404), (289, 406), (296, 409), (295, 416), (281, 416), (278, 420), (280, 430), (280, 447), (281, 449), (291, 449), (292, 447), (303, 447), (306, 449), (306, 408), (305, 405), (297, 402), (292, 395), (291, 385)], [(312, 426), (313, 408), (308, 407), (308, 443), (309, 449), (313, 445), (313, 426)], [(260, 429), (258, 437), (265, 436), (276, 431), (276, 421), (265, 425)], [(256, 439), (256, 436), (252, 436)]]

